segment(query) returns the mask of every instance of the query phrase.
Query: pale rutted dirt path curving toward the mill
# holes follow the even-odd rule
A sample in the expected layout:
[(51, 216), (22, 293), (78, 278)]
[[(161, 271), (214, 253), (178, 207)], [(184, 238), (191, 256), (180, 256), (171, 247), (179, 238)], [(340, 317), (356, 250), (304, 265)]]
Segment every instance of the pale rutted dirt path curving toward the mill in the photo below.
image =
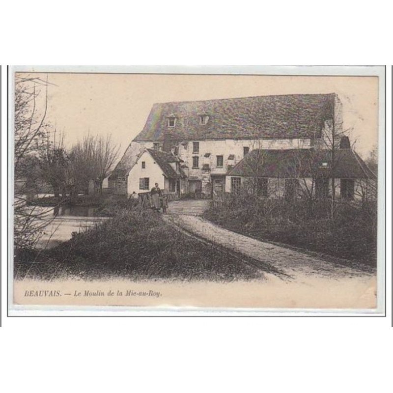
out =
[(264, 266), (271, 266), (292, 279), (305, 276), (352, 278), (355, 276), (371, 276), (361, 270), (342, 263), (326, 261), (318, 256), (311, 256), (289, 248), (262, 242), (239, 233), (232, 232), (199, 215), (208, 207), (206, 200), (171, 202), (165, 220), (177, 225), (189, 233), (211, 243), (241, 253)]

